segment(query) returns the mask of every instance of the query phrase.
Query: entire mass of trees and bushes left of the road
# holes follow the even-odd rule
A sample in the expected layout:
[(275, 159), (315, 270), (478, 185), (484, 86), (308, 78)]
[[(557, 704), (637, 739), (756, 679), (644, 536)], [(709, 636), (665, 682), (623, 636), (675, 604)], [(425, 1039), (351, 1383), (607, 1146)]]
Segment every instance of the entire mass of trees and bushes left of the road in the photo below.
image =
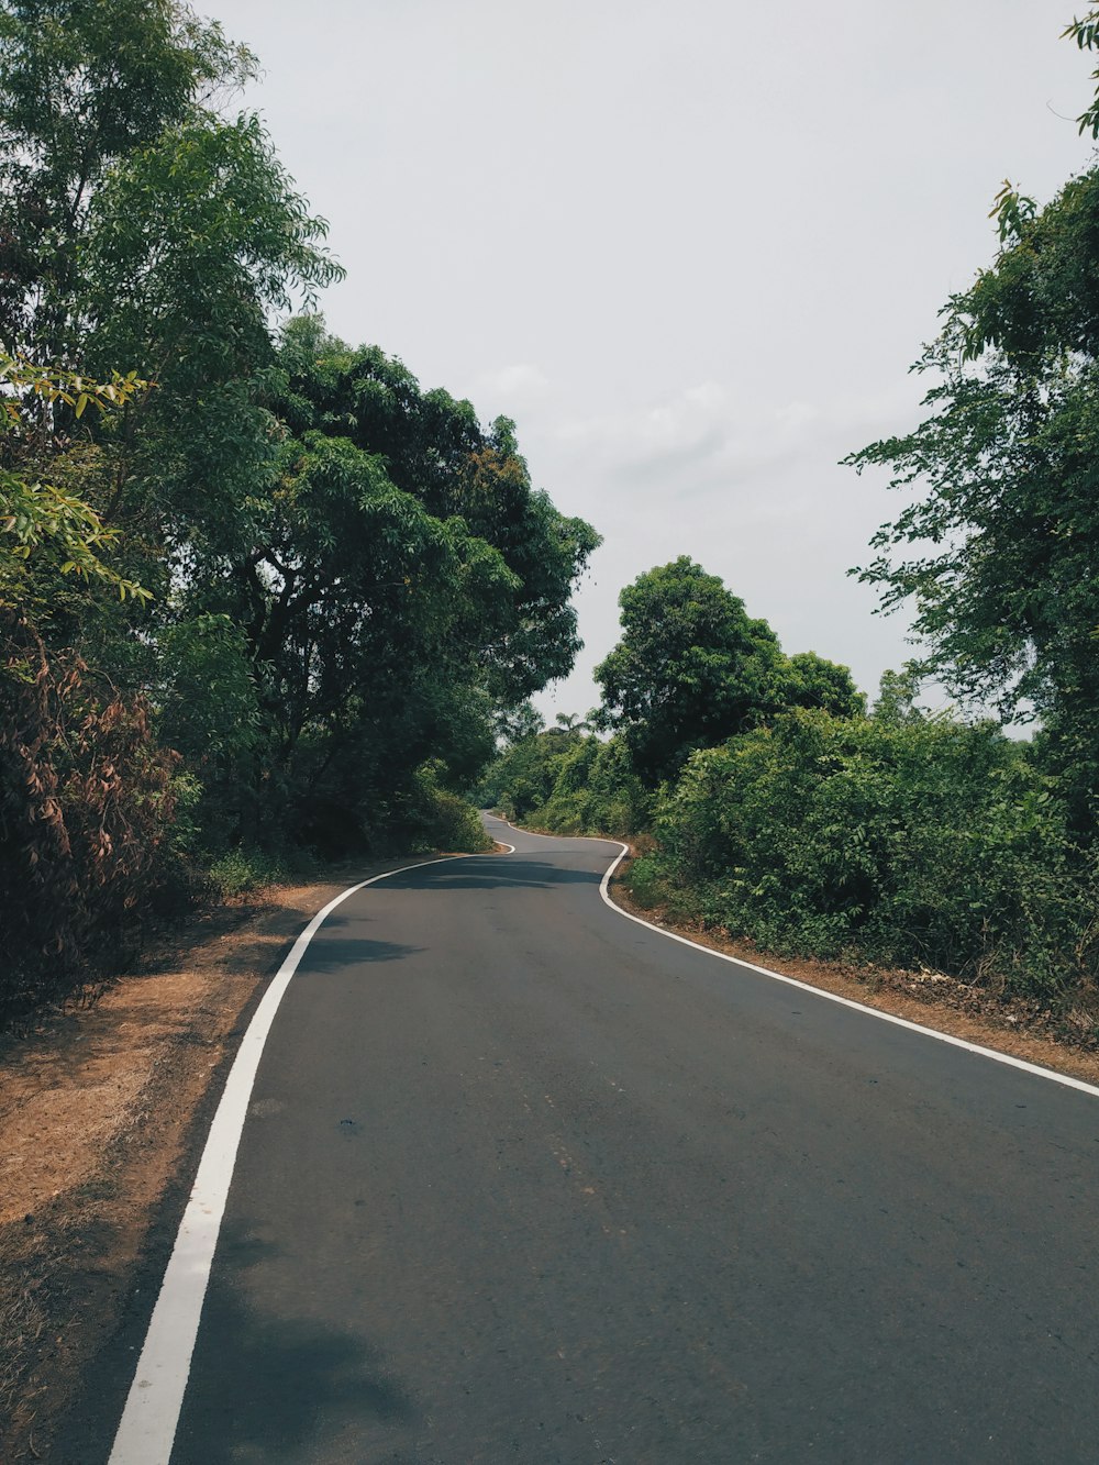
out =
[(598, 536), (325, 328), (255, 75), (177, 0), (0, 0), (0, 1026), (196, 895), (481, 847), (577, 648)]

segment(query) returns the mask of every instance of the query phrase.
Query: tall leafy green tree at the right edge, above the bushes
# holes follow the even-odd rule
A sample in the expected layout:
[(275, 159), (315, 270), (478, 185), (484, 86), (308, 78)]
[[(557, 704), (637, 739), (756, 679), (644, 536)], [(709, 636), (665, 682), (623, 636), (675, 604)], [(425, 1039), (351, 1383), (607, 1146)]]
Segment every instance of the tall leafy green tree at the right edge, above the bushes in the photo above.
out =
[(845, 461), (922, 489), (854, 571), (914, 601), (933, 674), (1001, 716), (1037, 713), (1080, 828), (1099, 794), (1099, 170), (1043, 209), (1001, 193), (1001, 249), (916, 369), (913, 432)]

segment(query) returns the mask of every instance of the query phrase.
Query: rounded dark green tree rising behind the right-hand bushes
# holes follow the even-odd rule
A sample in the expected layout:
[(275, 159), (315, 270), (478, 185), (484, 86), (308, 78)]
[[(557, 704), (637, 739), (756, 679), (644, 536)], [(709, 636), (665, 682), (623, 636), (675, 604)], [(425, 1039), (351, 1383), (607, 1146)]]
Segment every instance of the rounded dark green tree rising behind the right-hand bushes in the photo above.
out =
[(681, 555), (618, 598), (623, 636), (595, 668), (611, 725), (652, 784), (697, 747), (750, 727), (780, 696), (782, 653), (766, 621)]

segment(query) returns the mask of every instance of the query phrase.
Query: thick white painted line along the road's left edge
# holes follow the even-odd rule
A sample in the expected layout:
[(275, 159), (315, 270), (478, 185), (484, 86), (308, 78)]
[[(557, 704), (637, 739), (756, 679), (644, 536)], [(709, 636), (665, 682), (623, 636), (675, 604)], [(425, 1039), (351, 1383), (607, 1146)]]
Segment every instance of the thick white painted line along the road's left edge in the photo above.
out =
[(207, 1295), (210, 1267), (214, 1260), (221, 1216), (233, 1179), (236, 1151), (245, 1127), (248, 1105), (252, 1097), (259, 1058), (271, 1031), (274, 1015), (305, 949), (319, 930), (325, 917), (356, 891), (385, 880), (406, 870), (421, 870), (428, 864), (445, 864), (447, 860), (465, 860), (463, 854), (448, 854), (441, 860), (421, 860), (403, 864), (399, 870), (385, 870), (369, 880), (360, 880), (341, 891), (318, 911), (290, 948), (290, 954), (275, 973), (270, 987), (248, 1024), (233, 1067), (226, 1080), (226, 1090), (210, 1127), (198, 1175), (190, 1191), (190, 1200), (179, 1223), (176, 1245), (171, 1251), (157, 1305), (152, 1310), (145, 1346), (138, 1360), (126, 1408), (114, 1436), (108, 1465), (169, 1465), (176, 1439), (179, 1411), (183, 1405), (183, 1390), (190, 1373), (190, 1355), (195, 1349), (202, 1301)]

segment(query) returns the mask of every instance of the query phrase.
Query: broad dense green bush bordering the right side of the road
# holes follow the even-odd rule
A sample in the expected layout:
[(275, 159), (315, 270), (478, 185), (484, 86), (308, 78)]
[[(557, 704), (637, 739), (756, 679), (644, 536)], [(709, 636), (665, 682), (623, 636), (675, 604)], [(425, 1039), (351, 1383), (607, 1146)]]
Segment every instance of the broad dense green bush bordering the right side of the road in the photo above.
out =
[(1095, 976), (1096, 872), (992, 724), (791, 712), (696, 753), (640, 870), (775, 951), (1046, 993)]

